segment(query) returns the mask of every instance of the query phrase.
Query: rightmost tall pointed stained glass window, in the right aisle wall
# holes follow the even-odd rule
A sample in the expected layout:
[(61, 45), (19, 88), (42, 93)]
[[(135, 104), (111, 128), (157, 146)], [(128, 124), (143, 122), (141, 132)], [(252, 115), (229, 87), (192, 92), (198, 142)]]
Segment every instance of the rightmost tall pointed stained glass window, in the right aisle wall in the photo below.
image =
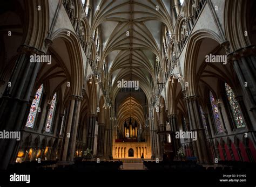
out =
[(230, 86), (225, 83), (225, 90), (227, 94), (228, 103), (230, 103), (230, 107), (233, 113), (235, 125), (237, 128), (245, 127), (244, 118), (242, 118), (242, 113), (239, 108), (237, 99), (235, 99), (234, 91), (230, 88)]

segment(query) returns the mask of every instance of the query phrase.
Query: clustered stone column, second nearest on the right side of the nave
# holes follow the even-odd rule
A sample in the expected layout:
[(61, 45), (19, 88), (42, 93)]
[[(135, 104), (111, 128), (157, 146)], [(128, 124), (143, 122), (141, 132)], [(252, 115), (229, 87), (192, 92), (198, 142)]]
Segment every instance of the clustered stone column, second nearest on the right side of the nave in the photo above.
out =
[(210, 156), (207, 152), (207, 140), (203, 120), (201, 119), (198, 96), (186, 97), (187, 111), (190, 119), (190, 130), (197, 132), (197, 140), (193, 141), (194, 154), (200, 163), (209, 163)]

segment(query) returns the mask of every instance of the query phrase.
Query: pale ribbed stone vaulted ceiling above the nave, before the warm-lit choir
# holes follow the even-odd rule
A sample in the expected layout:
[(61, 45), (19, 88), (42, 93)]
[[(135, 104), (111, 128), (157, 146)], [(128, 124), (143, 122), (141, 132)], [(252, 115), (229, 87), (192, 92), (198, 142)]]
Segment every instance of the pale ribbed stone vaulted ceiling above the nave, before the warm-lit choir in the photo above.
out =
[(131, 79), (139, 81), (140, 88), (150, 95), (151, 79), (156, 83), (154, 61), (156, 56), (163, 59), (163, 24), (172, 31), (170, 6), (170, 0), (93, 1), (92, 31), (101, 28), (101, 59), (109, 64), (113, 93), (119, 90), (117, 81)]

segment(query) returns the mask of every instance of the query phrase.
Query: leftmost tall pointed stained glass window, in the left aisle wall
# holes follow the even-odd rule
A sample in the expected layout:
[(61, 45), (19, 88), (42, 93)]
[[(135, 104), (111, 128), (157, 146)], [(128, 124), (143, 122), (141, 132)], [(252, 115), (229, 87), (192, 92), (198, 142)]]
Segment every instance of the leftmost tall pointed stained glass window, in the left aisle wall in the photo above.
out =
[(42, 96), (42, 91), (43, 91), (43, 84), (38, 88), (35, 98), (32, 101), (29, 116), (28, 116), (28, 119), (26, 120), (26, 127), (33, 128), (33, 125), (34, 125), (35, 119), (36, 119), (36, 115), (37, 115), (37, 109), (38, 109), (40, 99)]

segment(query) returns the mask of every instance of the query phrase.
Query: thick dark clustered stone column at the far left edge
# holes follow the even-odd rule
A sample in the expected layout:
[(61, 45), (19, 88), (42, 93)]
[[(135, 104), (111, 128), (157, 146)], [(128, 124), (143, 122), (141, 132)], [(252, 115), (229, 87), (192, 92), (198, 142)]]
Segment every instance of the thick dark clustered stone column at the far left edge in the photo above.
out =
[[(21, 131), (29, 99), (41, 63), (30, 62), (30, 55), (44, 53), (34, 47), (22, 45), (12, 71), (11, 87), (6, 87), (1, 98), (0, 131)], [(14, 152), (16, 139), (0, 139), (0, 169), (6, 169)]]

